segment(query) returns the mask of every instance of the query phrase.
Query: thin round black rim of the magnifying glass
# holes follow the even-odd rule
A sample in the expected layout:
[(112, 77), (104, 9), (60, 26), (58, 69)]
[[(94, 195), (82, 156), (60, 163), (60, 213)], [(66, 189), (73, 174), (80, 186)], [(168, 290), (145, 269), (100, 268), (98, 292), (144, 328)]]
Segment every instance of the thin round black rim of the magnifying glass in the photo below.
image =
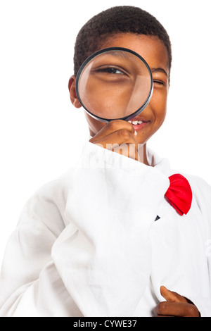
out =
[[(78, 85), (79, 85), (79, 77), (82, 73), (82, 71), (84, 70), (85, 66), (96, 56), (102, 54), (102, 53), (106, 53), (108, 51), (127, 51), (131, 54), (134, 54), (135, 56), (137, 56), (138, 58), (141, 59), (141, 61), (146, 65), (146, 68), (148, 69), (148, 72), (151, 76), (151, 88), (150, 91), (148, 93), (148, 96), (146, 98), (146, 101), (143, 103), (143, 105), (137, 109), (136, 111), (134, 111), (134, 113), (127, 115), (123, 118), (102, 118), (98, 115), (94, 115), (93, 113), (91, 113), (91, 111), (89, 111), (89, 109), (87, 109), (86, 106), (84, 106), (82, 99), (79, 96), (79, 89), (78, 89)], [(151, 96), (153, 94), (153, 75), (151, 73), (151, 68), (149, 67), (148, 63), (146, 62), (146, 60), (144, 60), (144, 58), (139, 55), (138, 53), (136, 53), (135, 51), (132, 51), (132, 49), (127, 49), (124, 47), (108, 47), (106, 49), (101, 49), (100, 51), (96, 51), (94, 54), (91, 54), (91, 56), (89, 56), (84, 63), (82, 63), (82, 65), (80, 66), (77, 75), (76, 75), (76, 81), (75, 81), (75, 90), (76, 90), (76, 94), (77, 94), (77, 98), (79, 99), (80, 104), (82, 104), (82, 107), (85, 109), (85, 111), (87, 111), (87, 113), (89, 113), (89, 115), (91, 115), (91, 117), (95, 118), (96, 120), (101, 120), (101, 122), (105, 122), (108, 123), (111, 120), (131, 120), (132, 118), (134, 118), (136, 115), (139, 115), (141, 113), (141, 111), (143, 111), (144, 108), (146, 108), (146, 106), (148, 105), (149, 101), (151, 100)]]

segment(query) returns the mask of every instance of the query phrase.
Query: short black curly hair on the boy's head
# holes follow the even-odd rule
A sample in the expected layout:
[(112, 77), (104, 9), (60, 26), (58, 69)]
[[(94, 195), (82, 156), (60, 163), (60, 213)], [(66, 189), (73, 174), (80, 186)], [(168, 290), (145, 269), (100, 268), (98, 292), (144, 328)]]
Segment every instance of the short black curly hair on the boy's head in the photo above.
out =
[(134, 33), (158, 37), (166, 46), (169, 68), (172, 65), (172, 46), (170, 37), (158, 20), (139, 7), (115, 6), (91, 18), (77, 35), (75, 41), (74, 73), (77, 75), (82, 63), (111, 35)]

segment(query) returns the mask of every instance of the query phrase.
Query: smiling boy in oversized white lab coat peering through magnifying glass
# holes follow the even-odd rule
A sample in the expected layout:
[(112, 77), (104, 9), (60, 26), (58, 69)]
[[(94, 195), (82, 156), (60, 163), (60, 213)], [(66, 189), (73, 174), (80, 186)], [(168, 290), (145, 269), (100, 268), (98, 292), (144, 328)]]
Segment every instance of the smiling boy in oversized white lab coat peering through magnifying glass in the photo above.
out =
[[(8, 242), (1, 316), (211, 316), (210, 187), (186, 176), (193, 199), (180, 211), (166, 195), (175, 172), (146, 148), (165, 120), (170, 39), (140, 8), (110, 8), (79, 32), (75, 75), (89, 55), (111, 46), (148, 62), (151, 102), (132, 123), (85, 113), (91, 139), (77, 167), (32, 196)], [(75, 75), (70, 99), (80, 108)]]

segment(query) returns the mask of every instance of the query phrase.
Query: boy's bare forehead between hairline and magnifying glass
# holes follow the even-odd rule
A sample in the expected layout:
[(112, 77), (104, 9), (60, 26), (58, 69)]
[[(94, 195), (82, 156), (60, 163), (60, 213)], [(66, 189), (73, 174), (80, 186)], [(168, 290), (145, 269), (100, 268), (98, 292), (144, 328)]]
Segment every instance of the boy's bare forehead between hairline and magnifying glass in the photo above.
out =
[(163, 68), (169, 73), (169, 59), (165, 44), (154, 36), (122, 33), (108, 37), (101, 48), (125, 47), (140, 54), (151, 68)]

